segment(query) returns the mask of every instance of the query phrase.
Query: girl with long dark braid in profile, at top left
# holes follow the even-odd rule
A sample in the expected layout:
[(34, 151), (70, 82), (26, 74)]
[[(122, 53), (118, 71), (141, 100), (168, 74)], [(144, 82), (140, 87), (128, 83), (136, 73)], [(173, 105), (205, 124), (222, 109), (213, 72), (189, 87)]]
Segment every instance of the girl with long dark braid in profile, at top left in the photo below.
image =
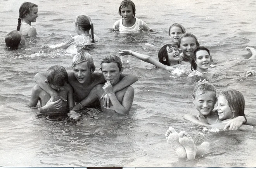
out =
[(36, 29), (31, 26), (31, 22), (36, 22), (38, 17), (38, 5), (31, 2), (24, 2), (19, 8), (19, 19), (17, 30), (21, 32), (22, 35), (35, 36)]

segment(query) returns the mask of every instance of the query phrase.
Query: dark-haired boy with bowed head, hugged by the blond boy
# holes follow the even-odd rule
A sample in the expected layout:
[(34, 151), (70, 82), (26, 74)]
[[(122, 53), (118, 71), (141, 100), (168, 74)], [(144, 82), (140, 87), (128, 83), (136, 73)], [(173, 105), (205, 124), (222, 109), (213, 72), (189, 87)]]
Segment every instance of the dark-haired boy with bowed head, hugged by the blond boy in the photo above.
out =
[[(35, 107), (39, 100), (42, 109), (57, 110), (58, 112), (71, 110), (74, 106), (73, 88), (68, 83), (66, 69), (63, 66), (51, 66), (46, 72), (46, 78), (45, 83), (50, 85), (59, 96), (51, 98), (39, 85), (35, 85), (29, 106)], [(61, 99), (65, 101), (61, 101)], [(57, 104), (53, 104), (53, 102), (57, 102)]]

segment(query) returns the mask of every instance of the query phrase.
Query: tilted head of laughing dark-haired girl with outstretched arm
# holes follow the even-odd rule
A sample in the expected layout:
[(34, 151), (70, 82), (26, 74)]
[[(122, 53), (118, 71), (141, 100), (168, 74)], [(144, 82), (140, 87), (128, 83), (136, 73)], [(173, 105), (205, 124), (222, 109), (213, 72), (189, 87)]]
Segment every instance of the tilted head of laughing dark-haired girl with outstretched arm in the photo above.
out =
[(158, 52), (158, 60), (164, 65), (170, 66), (171, 63), (179, 63), (180, 53), (178, 48), (172, 44), (166, 44)]

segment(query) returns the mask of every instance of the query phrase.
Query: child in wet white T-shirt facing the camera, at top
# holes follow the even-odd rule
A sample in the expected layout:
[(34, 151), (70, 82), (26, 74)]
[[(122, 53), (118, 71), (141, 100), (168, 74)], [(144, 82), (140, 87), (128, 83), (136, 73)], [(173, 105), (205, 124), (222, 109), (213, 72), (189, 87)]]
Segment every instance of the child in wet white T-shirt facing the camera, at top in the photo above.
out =
[(135, 18), (135, 5), (131, 0), (124, 0), (119, 6), (119, 15), (122, 19), (113, 25), (114, 31), (121, 33), (138, 33), (141, 31), (153, 31), (145, 22)]

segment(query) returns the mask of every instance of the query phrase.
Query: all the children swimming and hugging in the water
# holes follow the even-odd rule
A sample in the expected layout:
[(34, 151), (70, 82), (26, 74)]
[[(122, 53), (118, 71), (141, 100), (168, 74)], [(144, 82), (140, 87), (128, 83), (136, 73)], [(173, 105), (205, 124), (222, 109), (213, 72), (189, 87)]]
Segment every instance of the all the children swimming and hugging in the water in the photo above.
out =
[[(31, 22), (36, 22), (38, 17), (37, 7), (31, 2), (22, 3), (19, 9), (17, 30), (10, 32), (5, 38), (7, 48), (24, 48), (26, 42), (23, 35), (35, 36), (37, 34), (36, 29), (31, 26)], [(119, 15), (122, 19), (114, 23), (114, 31), (120, 33), (153, 31), (145, 22), (135, 18), (135, 4), (131, 0), (121, 2)], [(94, 35), (92, 21), (87, 15), (76, 17), (75, 29), (78, 35), (71, 36), (71, 41), (59, 47), (65, 49), (73, 43), (92, 44), (95, 39), (99, 39)], [(135, 56), (167, 71), (175, 70), (175, 65), (181, 64), (182, 61), (190, 62), (192, 73), (189, 76), (208, 77), (208, 68), (212, 62), (209, 49), (200, 46), (195, 35), (186, 33), (185, 28), (180, 24), (170, 26), (169, 36), (171, 43), (161, 47), (158, 52), (158, 61), (128, 49), (119, 50), (117, 54)], [(247, 47), (246, 51), (252, 54), (249, 59), (256, 59), (254, 48)], [(73, 57), (71, 68), (73, 72), (67, 72), (63, 66), (52, 66), (46, 73), (37, 73), (35, 79), (38, 84), (32, 90), (29, 105), (36, 106), (40, 101), (42, 109), (59, 112), (65, 112), (68, 109), (71, 110), (69, 115), (73, 118), (80, 117), (80, 114), (75, 112), (76, 110), (98, 103), (103, 111), (111, 110), (120, 114), (127, 114), (130, 111), (134, 97), (134, 89), (130, 85), (138, 78), (132, 74), (122, 73), (122, 62), (118, 56), (104, 57), (100, 63), (102, 73), (95, 73), (92, 56), (81, 51)], [(255, 75), (255, 73), (254, 70), (248, 71), (247, 76)], [(250, 128), (248, 125), (256, 125), (255, 118), (245, 116), (244, 96), (239, 91), (223, 91), (217, 98), (213, 85), (199, 83), (195, 86), (192, 96), (199, 114), (197, 116), (186, 114), (184, 118), (187, 120), (222, 130), (227, 128), (237, 130), (238, 128)], [(216, 110), (214, 110), (215, 103), (218, 105)], [(208, 142), (195, 146), (192, 137), (187, 132), (178, 133), (173, 127), (166, 131), (166, 140), (179, 157), (187, 157), (189, 160), (209, 151)]]

